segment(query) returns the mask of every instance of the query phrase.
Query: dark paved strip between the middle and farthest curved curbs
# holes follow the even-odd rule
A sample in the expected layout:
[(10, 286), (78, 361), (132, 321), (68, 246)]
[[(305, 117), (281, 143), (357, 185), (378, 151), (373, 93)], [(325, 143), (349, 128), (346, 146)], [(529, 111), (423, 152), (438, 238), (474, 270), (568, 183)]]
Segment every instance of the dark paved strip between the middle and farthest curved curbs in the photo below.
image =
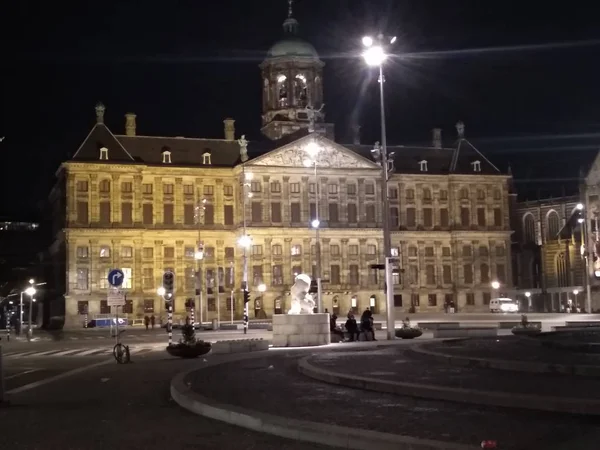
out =
[(407, 349), (406, 346), (395, 346), (360, 355), (343, 353), (315, 355), (311, 359), (311, 364), (348, 375), (389, 381), (515, 394), (600, 397), (600, 384), (597, 378), (574, 379), (560, 374), (541, 375), (458, 367), (426, 358), (415, 359), (407, 354)]

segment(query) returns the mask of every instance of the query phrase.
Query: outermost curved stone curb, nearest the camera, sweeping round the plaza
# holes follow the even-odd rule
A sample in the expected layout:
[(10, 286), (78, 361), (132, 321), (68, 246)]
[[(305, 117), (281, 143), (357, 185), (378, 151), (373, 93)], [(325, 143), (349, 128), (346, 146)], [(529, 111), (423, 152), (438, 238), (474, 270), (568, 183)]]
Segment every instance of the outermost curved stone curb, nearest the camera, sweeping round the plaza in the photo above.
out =
[[(227, 361), (209, 362), (202, 368), (252, 357), (256, 357), (256, 355), (242, 355)], [(170, 390), (171, 397), (179, 406), (203, 417), (283, 438), (346, 449), (474, 450), (478, 448), (470, 445), (452, 444), (443, 441), (418, 439), (410, 436), (291, 419), (219, 403), (193, 392), (185, 382), (190, 373), (202, 370), (202, 368), (177, 374), (171, 380)]]

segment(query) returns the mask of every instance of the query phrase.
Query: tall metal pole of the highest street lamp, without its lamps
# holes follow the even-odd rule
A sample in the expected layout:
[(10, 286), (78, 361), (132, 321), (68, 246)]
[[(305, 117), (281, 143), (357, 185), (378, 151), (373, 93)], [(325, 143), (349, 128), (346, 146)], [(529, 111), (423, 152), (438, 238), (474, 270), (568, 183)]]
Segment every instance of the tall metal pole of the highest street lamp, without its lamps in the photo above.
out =
[[(379, 65), (379, 97), (380, 97), (380, 109), (381, 109), (381, 165), (382, 165), (382, 179), (381, 179), (381, 194), (383, 196), (383, 248), (384, 257), (386, 258), (386, 309), (387, 309), (387, 337), (389, 340), (396, 339), (395, 328), (396, 321), (394, 318), (394, 284), (391, 276), (388, 276), (387, 258), (392, 256), (392, 244), (391, 244), (391, 232), (390, 232), (390, 221), (389, 221), (389, 210), (390, 200), (388, 198), (388, 159), (387, 159), (387, 136), (385, 129), (385, 103), (384, 103), (384, 90), (383, 90), (383, 63)], [(388, 280), (389, 278), (389, 280)]]

